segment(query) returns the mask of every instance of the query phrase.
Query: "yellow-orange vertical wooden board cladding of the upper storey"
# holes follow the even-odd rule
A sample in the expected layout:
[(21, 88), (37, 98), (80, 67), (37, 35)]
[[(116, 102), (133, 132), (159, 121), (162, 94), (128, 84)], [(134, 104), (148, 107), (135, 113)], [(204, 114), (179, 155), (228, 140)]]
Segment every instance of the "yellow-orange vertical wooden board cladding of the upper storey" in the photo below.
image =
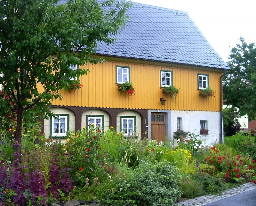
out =
[[(82, 66), (90, 70), (88, 75), (80, 77), (83, 87), (70, 93), (61, 91), (63, 99), (54, 100), (52, 104), (98, 108), (220, 111), (220, 77), (223, 70), (139, 60), (106, 59), (105, 63)], [(130, 82), (135, 88), (135, 95), (129, 96), (118, 91), (116, 66), (131, 68)], [(172, 71), (172, 85), (180, 89), (174, 99), (162, 93), (160, 70)], [(216, 91), (215, 97), (199, 96), (198, 73), (209, 75), (209, 86)], [(165, 105), (161, 105), (160, 98), (166, 100)]]

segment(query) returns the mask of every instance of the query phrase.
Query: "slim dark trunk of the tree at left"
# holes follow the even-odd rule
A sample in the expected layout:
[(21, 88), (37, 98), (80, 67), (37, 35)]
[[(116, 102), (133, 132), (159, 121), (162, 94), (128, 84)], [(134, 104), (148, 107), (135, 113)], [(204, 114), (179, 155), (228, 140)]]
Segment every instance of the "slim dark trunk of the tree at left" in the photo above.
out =
[(21, 136), (22, 136), (22, 108), (17, 109), (17, 128), (15, 131), (15, 147), (14, 151), (21, 154)]

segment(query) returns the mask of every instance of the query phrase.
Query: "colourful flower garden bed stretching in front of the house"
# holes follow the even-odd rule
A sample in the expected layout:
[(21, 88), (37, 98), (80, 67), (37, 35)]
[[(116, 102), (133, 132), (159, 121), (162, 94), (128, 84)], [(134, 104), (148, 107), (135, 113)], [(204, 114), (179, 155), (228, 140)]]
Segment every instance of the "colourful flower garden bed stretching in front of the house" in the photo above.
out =
[(175, 205), (256, 182), (256, 144), (250, 136), (208, 145), (199, 135), (180, 132), (171, 143), (157, 143), (124, 137), (113, 127), (84, 127), (60, 143), (46, 139), (39, 127), (23, 128), (20, 155), (13, 149), (14, 130), (0, 133), (0, 205), (62, 205), (72, 199)]

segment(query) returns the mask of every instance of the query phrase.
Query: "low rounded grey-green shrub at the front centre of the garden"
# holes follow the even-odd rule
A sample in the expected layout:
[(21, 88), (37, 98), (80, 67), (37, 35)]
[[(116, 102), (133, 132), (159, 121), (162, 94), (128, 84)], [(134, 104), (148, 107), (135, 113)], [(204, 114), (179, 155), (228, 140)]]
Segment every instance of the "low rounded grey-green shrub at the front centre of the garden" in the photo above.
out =
[(106, 193), (107, 205), (175, 205), (180, 175), (170, 163), (141, 164)]

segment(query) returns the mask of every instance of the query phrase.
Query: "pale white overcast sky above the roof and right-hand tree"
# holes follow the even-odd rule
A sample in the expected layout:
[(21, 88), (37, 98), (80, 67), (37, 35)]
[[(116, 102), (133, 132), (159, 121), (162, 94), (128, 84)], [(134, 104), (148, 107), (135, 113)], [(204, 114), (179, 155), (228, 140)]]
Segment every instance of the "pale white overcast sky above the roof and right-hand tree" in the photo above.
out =
[(256, 42), (256, 0), (132, 0), (188, 12), (215, 51), (227, 62), (231, 48)]

